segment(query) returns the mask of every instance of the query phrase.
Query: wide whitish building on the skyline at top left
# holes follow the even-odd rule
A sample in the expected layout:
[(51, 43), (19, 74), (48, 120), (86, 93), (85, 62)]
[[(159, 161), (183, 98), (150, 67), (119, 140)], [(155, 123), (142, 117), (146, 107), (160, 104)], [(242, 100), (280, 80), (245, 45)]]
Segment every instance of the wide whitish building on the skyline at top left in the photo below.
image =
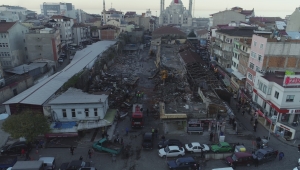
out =
[(47, 3), (40, 5), (41, 14), (51, 17), (53, 15), (64, 15), (66, 11), (75, 9), (72, 3)]

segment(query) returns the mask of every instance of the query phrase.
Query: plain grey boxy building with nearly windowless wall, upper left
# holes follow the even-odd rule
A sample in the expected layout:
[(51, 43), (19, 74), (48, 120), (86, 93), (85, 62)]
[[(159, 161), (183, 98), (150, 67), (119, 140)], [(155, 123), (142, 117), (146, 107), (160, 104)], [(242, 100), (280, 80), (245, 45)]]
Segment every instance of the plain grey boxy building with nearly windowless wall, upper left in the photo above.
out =
[(60, 49), (60, 34), (55, 28), (44, 28), (25, 34), (28, 62), (47, 59), (57, 62)]

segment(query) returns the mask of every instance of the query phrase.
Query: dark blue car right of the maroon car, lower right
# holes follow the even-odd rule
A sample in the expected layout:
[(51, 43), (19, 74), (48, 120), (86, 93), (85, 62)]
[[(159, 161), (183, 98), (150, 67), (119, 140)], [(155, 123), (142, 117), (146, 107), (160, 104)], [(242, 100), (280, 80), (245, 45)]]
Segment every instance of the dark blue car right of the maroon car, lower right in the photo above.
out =
[(258, 149), (254, 154), (252, 154), (253, 159), (258, 159), (258, 163), (265, 163), (268, 161), (273, 161), (278, 155), (278, 150), (267, 147), (263, 149)]

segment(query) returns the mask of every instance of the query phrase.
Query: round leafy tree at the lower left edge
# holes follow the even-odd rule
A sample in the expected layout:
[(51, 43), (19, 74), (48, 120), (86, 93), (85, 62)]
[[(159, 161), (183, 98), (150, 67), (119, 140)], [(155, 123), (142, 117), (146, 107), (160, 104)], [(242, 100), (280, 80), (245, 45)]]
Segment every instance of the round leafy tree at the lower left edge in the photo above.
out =
[(33, 142), (39, 135), (50, 131), (50, 124), (42, 113), (27, 110), (9, 116), (2, 129), (15, 139), (24, 137), (27, 142)]

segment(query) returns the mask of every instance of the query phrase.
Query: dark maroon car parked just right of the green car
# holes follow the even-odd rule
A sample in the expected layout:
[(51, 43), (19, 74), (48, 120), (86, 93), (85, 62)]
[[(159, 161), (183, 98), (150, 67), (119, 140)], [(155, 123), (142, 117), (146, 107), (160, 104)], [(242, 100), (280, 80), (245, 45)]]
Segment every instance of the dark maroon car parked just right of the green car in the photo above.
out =
[(225, 160), (226, 160), (226, 164), (228, 164), (232, 168), (241, 165), (250, 166), (251, 164), (254, 163), (252, 153), (249, 152), (236, 152), (231, 156), (226, 157)]

